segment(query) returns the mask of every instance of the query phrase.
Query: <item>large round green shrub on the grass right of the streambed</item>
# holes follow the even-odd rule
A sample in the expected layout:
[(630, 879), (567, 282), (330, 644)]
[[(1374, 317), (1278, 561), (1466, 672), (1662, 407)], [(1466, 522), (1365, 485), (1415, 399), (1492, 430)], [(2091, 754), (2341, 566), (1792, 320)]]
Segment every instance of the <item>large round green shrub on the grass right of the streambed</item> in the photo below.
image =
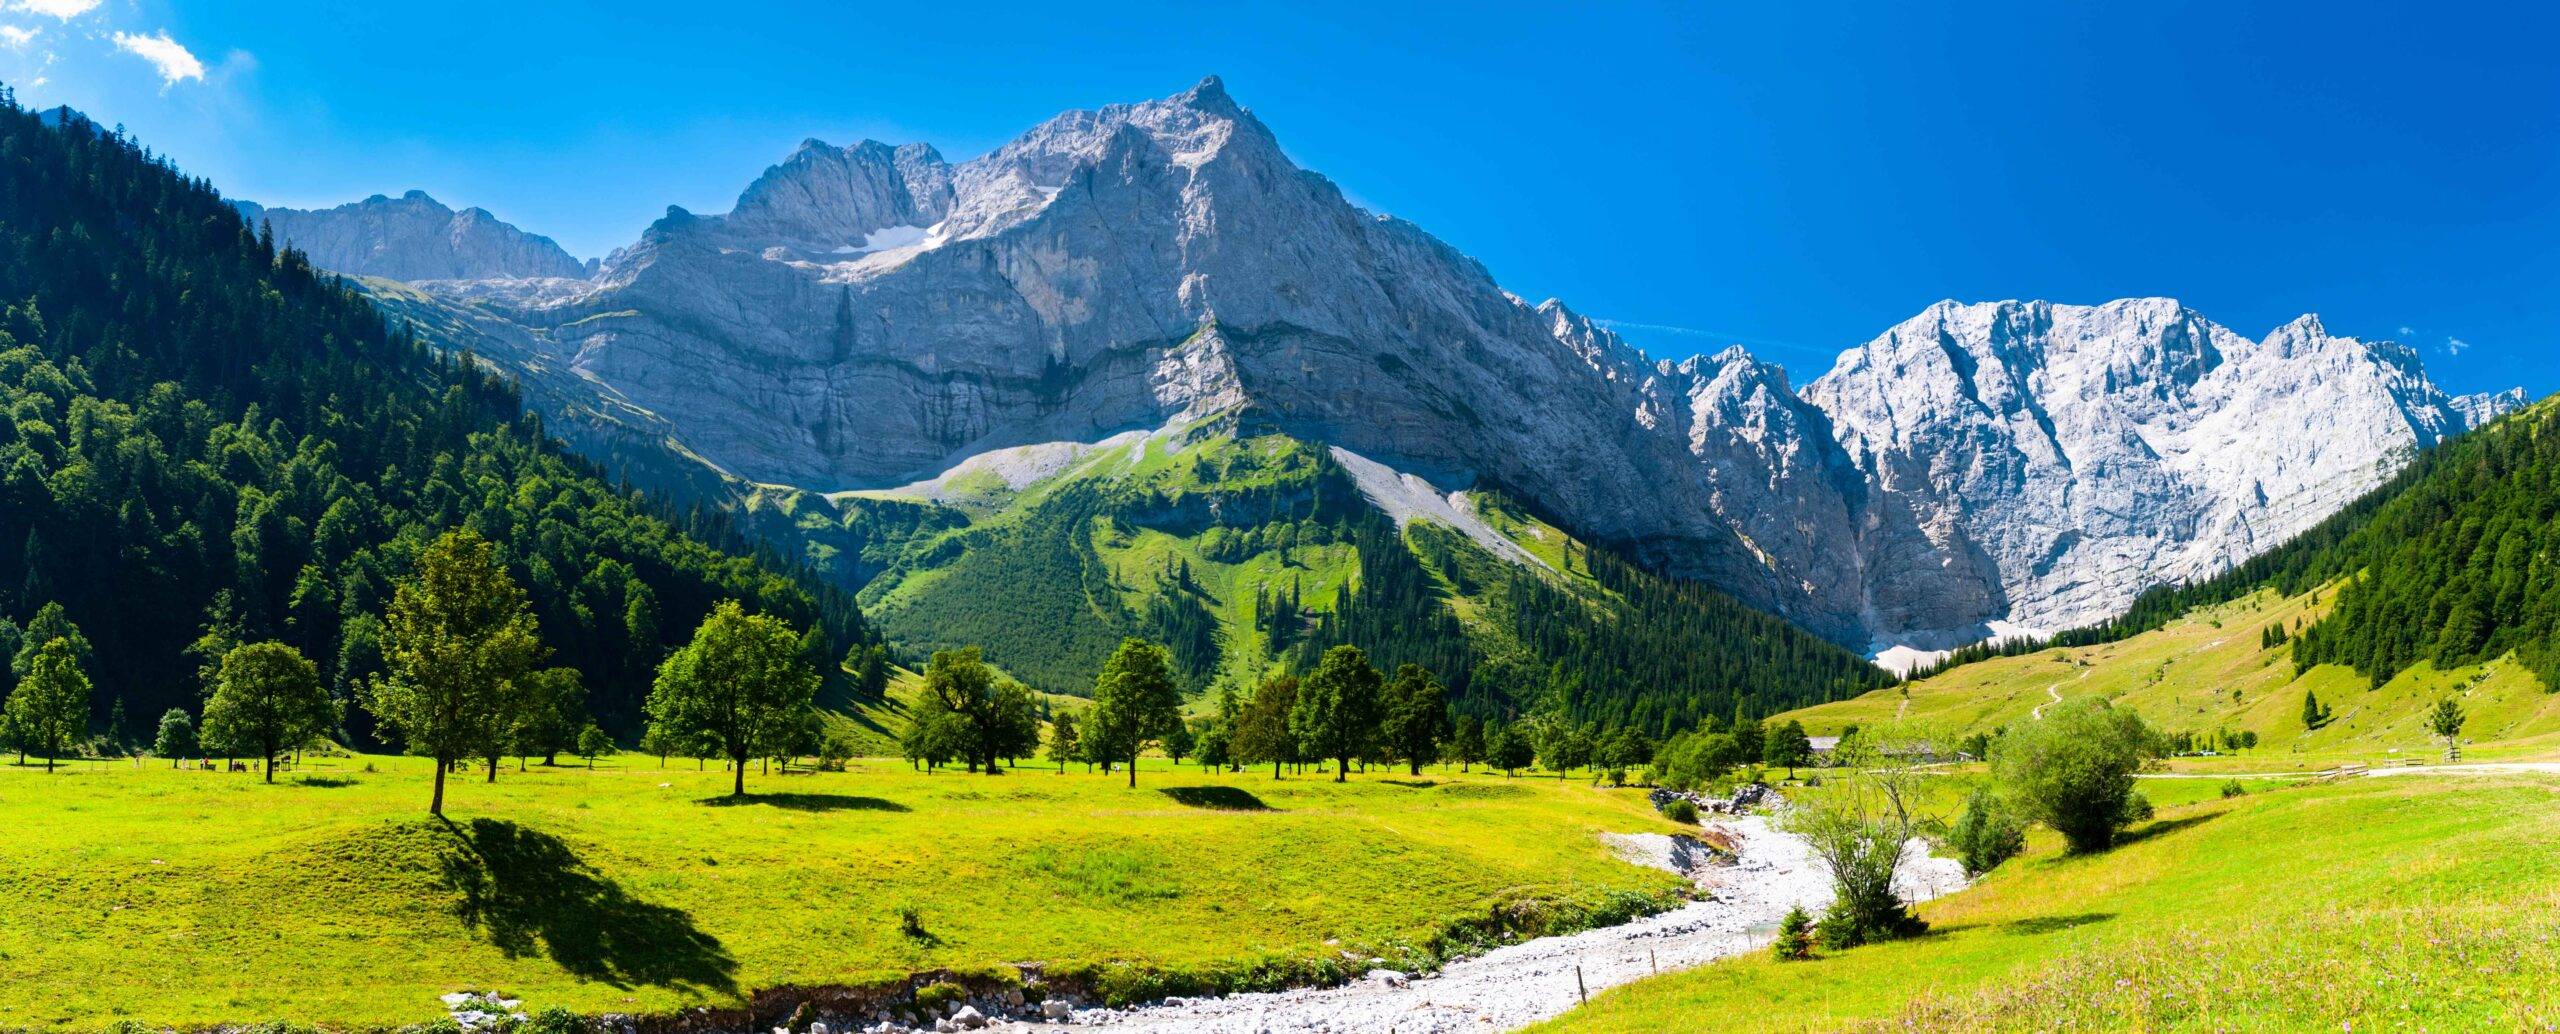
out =
[(2074, 852), (2115, 845), (2132, 814), (2132, 773), (2156, 752), (2143, 717), (2104, 699), (2053, 704), (1992, 747), (1992, 776), (2017, 809), (2063, 834)]

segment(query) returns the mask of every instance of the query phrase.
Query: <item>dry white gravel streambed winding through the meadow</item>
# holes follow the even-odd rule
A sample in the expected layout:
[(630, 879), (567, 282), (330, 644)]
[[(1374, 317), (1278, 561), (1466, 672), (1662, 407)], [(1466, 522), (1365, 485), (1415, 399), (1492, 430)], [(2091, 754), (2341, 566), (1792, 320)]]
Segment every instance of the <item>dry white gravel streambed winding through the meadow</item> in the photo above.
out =
[[(1080, 1026), (1114, 1031), (1208, 1034), (1454, 1034), (1508, 1031), (1556, 1016), (1582, 1001), (1654, 973), (1687, 970), (1759, 950), (1789, 906), (1820, 909), (1830, 880), (1795, 834), (1748, 816), (1723, 824), (1741, 845), (1736, 865), (1700, 870), (1710, 901), (1697, 901), (1623, 927), (1541, 937), (1452, 962), (1439, 975), (1405, 980), (1372, 975), (1344, 988), (1277, 990), (1229, 998), (1165, 1001), (1144, 1008), (1085, 1008)], [(1925, 901), (1964, 886), (1956, 863), (1928, 857), (1912, 842), (1902, 893)]]

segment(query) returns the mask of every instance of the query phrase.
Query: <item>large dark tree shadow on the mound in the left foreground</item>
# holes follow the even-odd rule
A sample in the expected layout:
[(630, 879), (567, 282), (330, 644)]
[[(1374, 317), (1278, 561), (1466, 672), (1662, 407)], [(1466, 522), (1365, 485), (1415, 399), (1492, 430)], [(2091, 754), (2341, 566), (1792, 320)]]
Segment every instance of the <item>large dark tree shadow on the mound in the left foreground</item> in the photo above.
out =
[(445, 829), (461, 850), (445, 852), (443, 886), (463, 924), (507, 957), (543, 952), (617, 988), (737, 990), (737, 960), (694, 916), (632, 898), (561, 837), (499, 819), (445, 819)]

